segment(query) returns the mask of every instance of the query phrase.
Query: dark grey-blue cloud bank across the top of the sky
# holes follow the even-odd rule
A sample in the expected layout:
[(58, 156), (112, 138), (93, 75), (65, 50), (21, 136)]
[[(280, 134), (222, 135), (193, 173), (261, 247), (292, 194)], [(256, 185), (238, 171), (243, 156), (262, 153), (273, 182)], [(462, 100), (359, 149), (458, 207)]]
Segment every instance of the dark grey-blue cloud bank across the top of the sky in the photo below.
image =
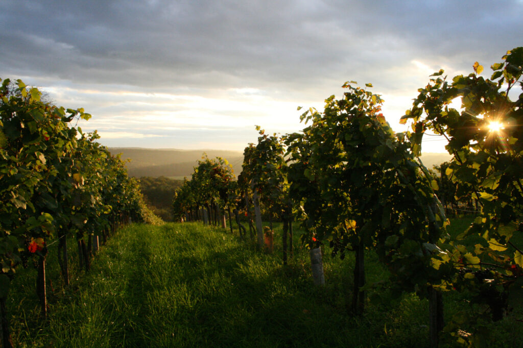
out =
[(521, 44), (522, 13), (518, 1), (5, 0), (0, 69), (151, 88), (377, 81), (417, 57), (499, 61)]

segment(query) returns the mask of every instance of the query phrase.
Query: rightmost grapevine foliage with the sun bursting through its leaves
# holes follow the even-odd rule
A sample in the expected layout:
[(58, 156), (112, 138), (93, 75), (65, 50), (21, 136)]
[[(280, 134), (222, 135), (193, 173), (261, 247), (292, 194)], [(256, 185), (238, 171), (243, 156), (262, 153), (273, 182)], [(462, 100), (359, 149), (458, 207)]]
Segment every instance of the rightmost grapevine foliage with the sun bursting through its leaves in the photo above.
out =
[(459, 291), (475, 294), (474, 301), (486, 304), (497, 320), (523, 285), (523, 48), (508, 51), (491, 68), (490, 78), (481, 76), (477, 62), (473, 73), (450, 81), (443, 71), (434, 74), (403, 122), (413, 122), (409, 136), (415, 153), (427, 131), (447, 138), (453, 158), (445, 175), (456, 185), (456, 199), (470, 196), (481, 206), (453, 246), (452, 260), (460, 269), (454, 282)]

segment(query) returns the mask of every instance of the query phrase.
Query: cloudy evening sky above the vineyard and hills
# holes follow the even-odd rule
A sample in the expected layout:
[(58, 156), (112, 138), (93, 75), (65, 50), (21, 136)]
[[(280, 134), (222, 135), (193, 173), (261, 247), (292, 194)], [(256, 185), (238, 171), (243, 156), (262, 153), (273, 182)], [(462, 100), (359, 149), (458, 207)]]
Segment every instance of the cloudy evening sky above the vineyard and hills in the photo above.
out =
[[(224, 149), (302, 130), (355, 80), (397, 132), (417, 89), (523, 45), (521, 0), (0, 0), (0, 78), (39, 87), (111, 147)], [(445, 152), (445, 141), (423, 152)]]

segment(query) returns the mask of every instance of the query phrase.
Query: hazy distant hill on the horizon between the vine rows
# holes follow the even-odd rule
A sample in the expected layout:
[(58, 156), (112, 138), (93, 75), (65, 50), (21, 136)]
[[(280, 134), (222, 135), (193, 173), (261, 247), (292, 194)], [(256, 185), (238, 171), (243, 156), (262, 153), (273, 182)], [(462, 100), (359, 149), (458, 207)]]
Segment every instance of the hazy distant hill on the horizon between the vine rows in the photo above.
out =
[(209, 158), (222, 157), (233, 166), (237, 176), (242, 171), (243, 153), (226, 150), (177, 150), (134, 147), (109, 147), (111, 154), (122, 154), (131, 159), (127, 170), (132, 177), (188, 177), (205, 154)]

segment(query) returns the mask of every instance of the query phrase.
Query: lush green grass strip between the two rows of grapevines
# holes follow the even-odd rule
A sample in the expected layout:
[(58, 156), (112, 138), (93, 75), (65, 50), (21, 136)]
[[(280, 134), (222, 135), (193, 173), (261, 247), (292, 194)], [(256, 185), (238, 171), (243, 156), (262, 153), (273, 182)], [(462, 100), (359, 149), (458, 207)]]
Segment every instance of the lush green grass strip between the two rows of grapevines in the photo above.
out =
[[(360, 317), (347, 313), (351, 253), (342, 261), (326, 250), (326, 285), (314, 287), (306, 250), (297, 247), (283, 266), (279, 248), (258, 252), (228, 229), (184, 223), (120, 230), (90, 273), (73, 269), (69, 288), (52, 261), (48, 322), (38, 320), (35, 271), (25, 270), (13, 284), (8, 306), (17, 346), (428, 346), (428, 305), (415, 295), (369, 302)], [(386, 276), (372, 252), (366, 268), (368, 281)], [(446, 310), (457, 300), (447, 301)]]

